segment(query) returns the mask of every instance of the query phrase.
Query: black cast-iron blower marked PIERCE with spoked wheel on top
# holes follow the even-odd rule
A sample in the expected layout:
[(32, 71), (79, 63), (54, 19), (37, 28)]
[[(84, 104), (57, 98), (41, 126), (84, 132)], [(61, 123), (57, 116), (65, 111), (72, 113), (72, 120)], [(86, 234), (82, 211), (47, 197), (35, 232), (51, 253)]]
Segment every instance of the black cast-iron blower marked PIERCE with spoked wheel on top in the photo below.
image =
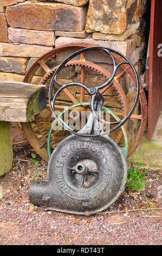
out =
[[(91, 50), (104, 52), (112, 59), (113, 72), (108, 80), (100, 86), (91, 88), (79, 82), (61, 84), (57, 80), (60, 70), (78, 54)], [(122, 57), (124, 61), (117, 63), (114, 58), (115, 56)], [(116, 121), (108, 122), (101, 118), (101, 111), (103, 109), (109, 111), (109, 113), (111, 111), (103, 106), (104, 100), (100, 90), (111, 85), (116, 70), (121, 65), (128, 65), (133, 70), (137, 93), (131, 111), (121, 120), (112, 112), (111, 114)], [(53, 96), (55, 84), (60, 88)], [(91, 113), (88, 121), (78, 132), (73, 131), (64, 123), (61, 119), (63, 112), (57, 115), (55, 111), (56, 97), (65, 88), (74, 86), (80, 87), (81, 90), (84, 89), (91, 97), (90, 103), (81, 102), (65, 109), (66, 111), (75, 106), (90, 105)], [(32, 182), (29, 191), (31, 203), (46, 206), (50, 210), (90, 215), (107, 209), (108, 206), (119, 198), (120, 194), (124, 191), (127, 180), (127, 149), (121, 149), (113, 139), (108, 137), (108, 134), (119, 129), (119, 127), (123, 127), (131, 117), (137, 105), (139, 93), (139, 80), (132, 63), (123, 54), (110, 48), (83, 48), (71, 54), (61, 63), (50, 82), (49, 101), (55, 121), (72, 133), (72, 135), (57, 144), (57, 147), (51, 154), (48, 163), (47, 179), (43, 182)], [(113, 125), (113, 128), (104, 132), (102, 129), (103, 124)]]

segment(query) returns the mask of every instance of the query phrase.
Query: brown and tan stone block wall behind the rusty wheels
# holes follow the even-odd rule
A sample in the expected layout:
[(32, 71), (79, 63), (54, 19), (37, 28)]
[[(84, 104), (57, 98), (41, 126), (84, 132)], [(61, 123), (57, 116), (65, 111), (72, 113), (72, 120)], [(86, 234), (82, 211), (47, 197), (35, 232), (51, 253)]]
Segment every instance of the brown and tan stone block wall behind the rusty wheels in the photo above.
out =
[[(70, 42), (113, 48), (129, 58), (141, 75), (146, 7), (147, 0), (0, 0), (0, 80), (22, 81), (38, 57)], [(57, 54), (55, 64), (69, 53)], [(98, 55), (89, 58), (107, 64)], [(77, 80), (79, 71), (73, 72)], [(41, 76), (37, 71), (33, 82)], [(93, 81), (91, 76), (88, 81)]]

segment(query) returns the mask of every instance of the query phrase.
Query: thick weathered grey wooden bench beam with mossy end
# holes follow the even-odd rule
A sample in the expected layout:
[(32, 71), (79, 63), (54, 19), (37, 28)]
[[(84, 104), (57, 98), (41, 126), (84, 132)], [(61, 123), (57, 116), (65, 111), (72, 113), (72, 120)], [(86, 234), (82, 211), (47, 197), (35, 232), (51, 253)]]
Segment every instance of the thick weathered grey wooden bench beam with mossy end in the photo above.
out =
[(27, 122), (47, 105), (46, 86), (0, 82), (0, 120)]

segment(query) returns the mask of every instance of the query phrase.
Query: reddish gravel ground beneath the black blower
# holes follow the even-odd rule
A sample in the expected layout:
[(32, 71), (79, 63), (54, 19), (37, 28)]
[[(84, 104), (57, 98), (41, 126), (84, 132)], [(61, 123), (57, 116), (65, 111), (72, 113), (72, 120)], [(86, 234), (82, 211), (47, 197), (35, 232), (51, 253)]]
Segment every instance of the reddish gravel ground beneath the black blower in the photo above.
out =
[(31, 181), (47, 173), (39, 156), (38, 168), (31, 163), (32, 152), (30, 145), (15, 146), (14, 158), (29, 162), (16, 160), (0, 178), (0, 245), (161, 245), (162, 171), (149, 170), (147, 187), (134, 193), (126, 188), (106, 213), (64, 214), (30, 204)]

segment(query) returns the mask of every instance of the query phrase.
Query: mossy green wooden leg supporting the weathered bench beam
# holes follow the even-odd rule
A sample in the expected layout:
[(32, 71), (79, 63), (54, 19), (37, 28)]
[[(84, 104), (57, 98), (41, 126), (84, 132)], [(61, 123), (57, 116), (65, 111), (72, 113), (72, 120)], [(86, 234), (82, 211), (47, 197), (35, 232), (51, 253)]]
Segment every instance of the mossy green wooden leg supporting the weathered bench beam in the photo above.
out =
[(10, 122), (0, 121), (0, 158), (1, 176), (12, 168), (13, 153)]

